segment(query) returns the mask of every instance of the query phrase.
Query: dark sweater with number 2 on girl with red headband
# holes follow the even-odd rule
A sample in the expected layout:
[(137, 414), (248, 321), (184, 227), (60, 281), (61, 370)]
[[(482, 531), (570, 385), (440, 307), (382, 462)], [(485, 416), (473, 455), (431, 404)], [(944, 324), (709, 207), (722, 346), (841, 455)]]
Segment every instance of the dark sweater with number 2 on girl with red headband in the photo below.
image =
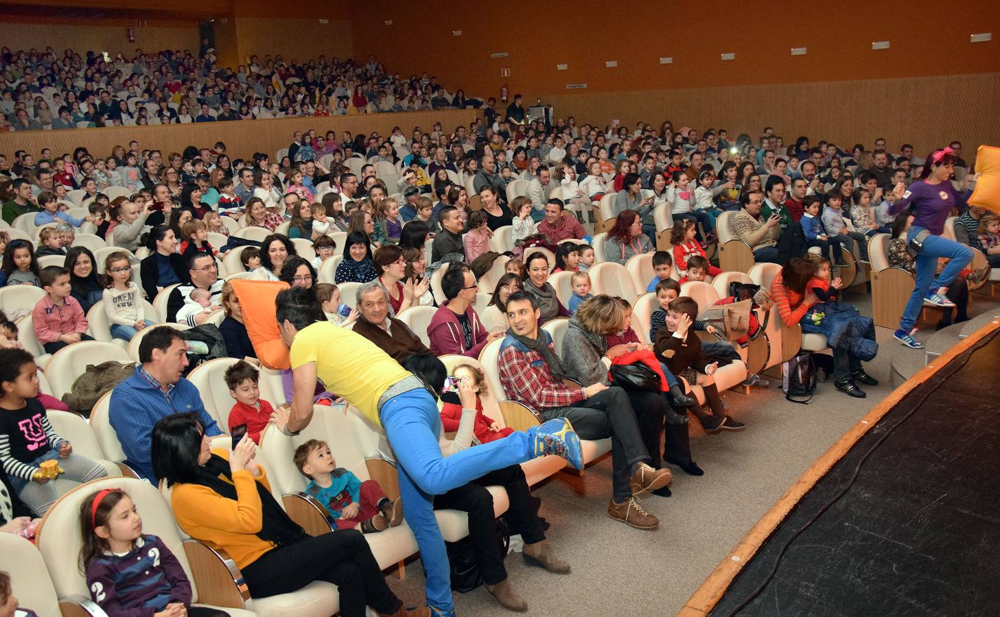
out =
[(177, 557), (155, 535), (139, 536), (132, 550), (110, 551), (87, 563), (90, 597), (114, 617), (153, 617), (167, 604), (191, 603), (191, 582)]

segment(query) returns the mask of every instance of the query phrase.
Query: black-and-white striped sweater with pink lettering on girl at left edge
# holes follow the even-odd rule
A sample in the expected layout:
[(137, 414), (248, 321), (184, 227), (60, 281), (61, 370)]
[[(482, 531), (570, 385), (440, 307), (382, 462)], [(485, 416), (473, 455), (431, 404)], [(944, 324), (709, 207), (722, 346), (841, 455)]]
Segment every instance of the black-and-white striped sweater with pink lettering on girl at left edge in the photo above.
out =
[(11, 477), (30, 480), (39, 471), (35, 460), (63, 440), (35, 398), (20, 409), (0, 408), (0, 465)]

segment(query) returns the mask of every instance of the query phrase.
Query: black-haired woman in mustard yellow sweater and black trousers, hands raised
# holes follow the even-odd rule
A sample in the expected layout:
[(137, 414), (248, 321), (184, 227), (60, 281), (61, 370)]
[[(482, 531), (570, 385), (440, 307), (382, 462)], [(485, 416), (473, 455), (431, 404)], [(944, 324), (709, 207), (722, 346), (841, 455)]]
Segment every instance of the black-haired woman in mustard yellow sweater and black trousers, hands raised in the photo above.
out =
[(229, 553), (250, 596), (290, 593), (314, 580), (338, 586), (340, 614), (426, 616), (407, 610), (389, 589), (361, 532), (342, 529), (311, 537), (278, 505), (256, 445), (243, 439), (232, 450), (211, 450), (194, 413), (169, 415), (153, 429), (156, 477), (173, 486), (171, 507), (191, 537)]

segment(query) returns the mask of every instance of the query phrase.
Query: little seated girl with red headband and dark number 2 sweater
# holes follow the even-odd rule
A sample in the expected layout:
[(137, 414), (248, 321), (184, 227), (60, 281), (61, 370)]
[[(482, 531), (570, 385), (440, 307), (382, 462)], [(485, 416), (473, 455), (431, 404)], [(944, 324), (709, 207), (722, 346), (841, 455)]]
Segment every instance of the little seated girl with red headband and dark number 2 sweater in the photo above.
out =
[(223, 617), (191, 606), (191, 582), (160, 538), (142, 532), (142, 517), (120, 488), (105, 488), (80, 507), (80, 565), (90, 597), (110, 617)]

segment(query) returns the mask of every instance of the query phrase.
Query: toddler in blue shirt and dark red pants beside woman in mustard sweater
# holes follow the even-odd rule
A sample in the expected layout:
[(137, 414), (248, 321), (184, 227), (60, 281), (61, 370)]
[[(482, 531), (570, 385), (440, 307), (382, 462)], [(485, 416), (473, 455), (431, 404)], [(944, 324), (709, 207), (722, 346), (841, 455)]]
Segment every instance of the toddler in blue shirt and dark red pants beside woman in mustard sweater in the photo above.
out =
[(376, 533), (403, 522), (403, 501), (390, 501), (375, 480), (361, 481), (337, 463), (325, 441), (310, 439), (295, 449), (295, 466), (309, 478), (306, 492), (326, 508), (338, 529)]

